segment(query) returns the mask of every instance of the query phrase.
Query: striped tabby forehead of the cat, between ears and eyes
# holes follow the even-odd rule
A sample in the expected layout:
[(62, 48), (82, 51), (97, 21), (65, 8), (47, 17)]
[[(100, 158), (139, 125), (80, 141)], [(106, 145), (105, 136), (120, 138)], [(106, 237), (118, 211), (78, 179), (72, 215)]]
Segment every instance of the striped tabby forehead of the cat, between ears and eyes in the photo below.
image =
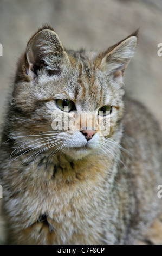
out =
[[(92, 54), (74, 52), (70, 55), (71, 65), (65, 65), (59, 77), (50, 77), (50, 83), (42, 83), (41, 88), (47, 88), (47, 97), (53, 95), (56, 99), (68, 99), (77, 102), (82, 108), (98, 108), (109, 103), (112, 84), (109, 78), (93, 64)], [(113, 92), (114, 93), (114, 92)], [(43, 92), (44, 94), (44, 92)]]

